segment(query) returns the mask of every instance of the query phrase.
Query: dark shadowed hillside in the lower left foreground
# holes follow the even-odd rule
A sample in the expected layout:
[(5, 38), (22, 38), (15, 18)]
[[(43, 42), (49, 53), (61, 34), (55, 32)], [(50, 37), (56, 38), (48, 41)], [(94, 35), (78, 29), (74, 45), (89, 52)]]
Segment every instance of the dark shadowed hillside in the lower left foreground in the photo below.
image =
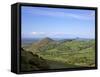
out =
[(21, 71), (43, 70), (49, 66), (45, 59), (21, 48)]

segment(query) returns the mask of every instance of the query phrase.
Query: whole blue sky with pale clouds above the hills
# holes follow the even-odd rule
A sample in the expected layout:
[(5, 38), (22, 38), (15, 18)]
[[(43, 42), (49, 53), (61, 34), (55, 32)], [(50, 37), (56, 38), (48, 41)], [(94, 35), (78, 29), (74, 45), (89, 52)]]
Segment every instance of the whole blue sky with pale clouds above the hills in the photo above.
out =
[(95, 38), (95, 11), (21, 7), (22, 38)]

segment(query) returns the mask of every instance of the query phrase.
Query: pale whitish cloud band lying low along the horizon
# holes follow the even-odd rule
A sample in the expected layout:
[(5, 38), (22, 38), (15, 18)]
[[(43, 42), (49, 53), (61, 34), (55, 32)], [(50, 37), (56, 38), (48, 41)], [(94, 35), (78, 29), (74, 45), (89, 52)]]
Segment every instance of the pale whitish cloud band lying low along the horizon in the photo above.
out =
[(87, 33), (87, 34), (79, 34), (79, 33), (65, 33), (65, 32), (31, 32), (31, 33), (22, 33), (22, 37), (26, 37), (26, 36), (29, 36), (29, 37), (41, 37), (41, 38), (44, 38), (44, 37), (54, 37), (54, 38), (76, 38), (76, 37), (86, 37), (86, 38), (94, 38), (94, 34), (90, 34), (90, 33)]

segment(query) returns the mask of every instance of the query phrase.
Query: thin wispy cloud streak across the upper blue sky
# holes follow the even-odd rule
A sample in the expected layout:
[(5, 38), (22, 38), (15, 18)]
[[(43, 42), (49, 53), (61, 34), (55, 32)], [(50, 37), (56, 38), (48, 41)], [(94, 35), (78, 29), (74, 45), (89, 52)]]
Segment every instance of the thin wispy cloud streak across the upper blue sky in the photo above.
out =
[[(74, 11), (73, 11), (74, 12)], [(94, 15), (93, 12), (88, 13), (83, 13), (83, 14), (78, 14), (76, 12), (64, 12), (64, 11), (59, 11), (59, 10), (52, 10), (52, 9), (36, 9), (33, 8), (33, 11), (30, 11), (30, 14), (35, 14), (35, 15), (44, 15), (44, 16), (52, 16), (52, 17), (63, 17), (63, 18), (75, 18), (75, 19), (82, 19), (82, 20), (90, 20)]]

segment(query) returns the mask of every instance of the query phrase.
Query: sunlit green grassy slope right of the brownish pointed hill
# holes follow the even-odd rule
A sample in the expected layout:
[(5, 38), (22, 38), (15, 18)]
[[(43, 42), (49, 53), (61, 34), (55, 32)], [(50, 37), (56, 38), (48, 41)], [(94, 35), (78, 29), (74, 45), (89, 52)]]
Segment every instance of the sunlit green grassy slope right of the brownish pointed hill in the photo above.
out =
[(57, 47), (39, 53), (42, 57), (52, 61), (65, 63), (66, 67), (94, 66), (95, 48), (94, 41), (71, 41), (65, 42)]

